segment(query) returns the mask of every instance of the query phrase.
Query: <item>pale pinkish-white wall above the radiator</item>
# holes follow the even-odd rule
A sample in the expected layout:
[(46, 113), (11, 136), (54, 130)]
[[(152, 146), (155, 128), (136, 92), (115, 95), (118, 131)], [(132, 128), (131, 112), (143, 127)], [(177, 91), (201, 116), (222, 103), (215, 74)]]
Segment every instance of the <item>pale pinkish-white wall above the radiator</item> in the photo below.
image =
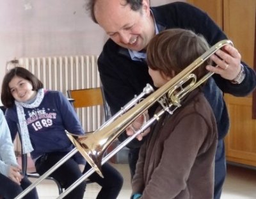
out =
[[(84, 0), (0, 1), (0, 90), (6, 61), (19, 57), (99, 54), (104, 31)], [(151, 0), (152, 6), (172, 0)]]

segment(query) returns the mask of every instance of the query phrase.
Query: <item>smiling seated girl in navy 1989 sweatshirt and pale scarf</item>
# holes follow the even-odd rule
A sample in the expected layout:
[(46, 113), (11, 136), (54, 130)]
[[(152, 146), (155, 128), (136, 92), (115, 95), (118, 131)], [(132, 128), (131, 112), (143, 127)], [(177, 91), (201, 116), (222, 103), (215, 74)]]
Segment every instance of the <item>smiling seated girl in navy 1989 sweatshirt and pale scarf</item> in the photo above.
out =
[[(15, 67), (4, 76), (1, 100), (6, 109), (6, 120), (12, 138), (17, 133), (17, 123), (22, 134), (23, 150), (30, 152), (36, 171), (42, 175), (64, 157), (74, 146), (65, 130), (82, 135), (84, 131), (74, 108), (58, 91), (44, 90), (42, 82), (22, 67)], [(83, 171), (90, 168), (83, 156), (75, 154), (51, 176), (67, 189)], [(102, 166), (104, 179), (97, 173), (90, 180), (102, 186), (97, 198), (114, 199), (122, 188), (120, 173), (109, 164)], [(86, 182), (82, 182), (66, 198), (83, 198)]]

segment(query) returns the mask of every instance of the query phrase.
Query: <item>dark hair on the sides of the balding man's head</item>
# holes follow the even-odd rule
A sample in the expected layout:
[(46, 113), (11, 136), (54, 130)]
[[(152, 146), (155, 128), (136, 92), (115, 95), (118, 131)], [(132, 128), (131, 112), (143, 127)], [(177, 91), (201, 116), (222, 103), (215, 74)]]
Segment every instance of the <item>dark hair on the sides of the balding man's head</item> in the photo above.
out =
[[(88, 3), (86, 3), (86, 10), (90, 12), (93, 22), (98, 23), (94, 13), (94, 6), (96, 1), (97, 0), (89, 0)], [(124, 1), (126, 1), (124, 6), (126, 6), (127, 4), (130, 4), (131, 10), (137, 11), (137, 10), (140, 10), (143, 0), (124, 0)]]

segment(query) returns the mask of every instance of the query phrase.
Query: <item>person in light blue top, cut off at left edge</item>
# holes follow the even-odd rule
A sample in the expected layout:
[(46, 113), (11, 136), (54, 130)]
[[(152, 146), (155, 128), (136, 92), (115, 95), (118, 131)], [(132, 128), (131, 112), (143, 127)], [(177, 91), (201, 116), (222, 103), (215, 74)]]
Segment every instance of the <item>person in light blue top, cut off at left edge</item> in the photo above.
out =
[[(3, 111), (0, 110), (0, 196), (6, 199), (15, 198), (31, 182), (20, 175), (20, 166), (16, 161), (12, 138)], [(36, 189), (33, 189), (25, 199), (37, 199)]]

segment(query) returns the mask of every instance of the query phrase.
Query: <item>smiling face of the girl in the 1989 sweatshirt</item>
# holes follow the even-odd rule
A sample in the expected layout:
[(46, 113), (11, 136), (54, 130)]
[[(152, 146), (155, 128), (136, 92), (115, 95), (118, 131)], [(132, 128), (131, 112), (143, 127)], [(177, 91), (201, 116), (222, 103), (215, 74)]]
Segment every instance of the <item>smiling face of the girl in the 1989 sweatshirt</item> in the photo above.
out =
[(9, 88), (13, 98), (18, 102), (27, 102), (36, 96), (36, 91), (32, 90), (31, 82), (19, 76), (12, 78)]

